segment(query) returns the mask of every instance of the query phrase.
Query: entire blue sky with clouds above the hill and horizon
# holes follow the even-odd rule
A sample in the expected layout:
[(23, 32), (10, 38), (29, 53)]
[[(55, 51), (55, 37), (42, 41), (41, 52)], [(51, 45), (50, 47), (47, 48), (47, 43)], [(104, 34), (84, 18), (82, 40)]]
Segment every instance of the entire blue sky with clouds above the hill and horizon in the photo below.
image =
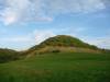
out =
[(0, 48), (70, 35), (110, 49), (110, 0), (0, 0)]

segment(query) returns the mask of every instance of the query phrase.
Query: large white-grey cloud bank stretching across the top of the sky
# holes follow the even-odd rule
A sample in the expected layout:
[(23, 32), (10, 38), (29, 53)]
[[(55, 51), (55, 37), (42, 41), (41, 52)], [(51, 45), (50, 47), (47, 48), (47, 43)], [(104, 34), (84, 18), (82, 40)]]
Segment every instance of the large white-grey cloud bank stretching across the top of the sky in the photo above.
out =
[(109, 4), (109, 0), (0, 0), (0, 17), (7, 25), (25, 21), (50, 22), (56, 14), (96, 12)]

